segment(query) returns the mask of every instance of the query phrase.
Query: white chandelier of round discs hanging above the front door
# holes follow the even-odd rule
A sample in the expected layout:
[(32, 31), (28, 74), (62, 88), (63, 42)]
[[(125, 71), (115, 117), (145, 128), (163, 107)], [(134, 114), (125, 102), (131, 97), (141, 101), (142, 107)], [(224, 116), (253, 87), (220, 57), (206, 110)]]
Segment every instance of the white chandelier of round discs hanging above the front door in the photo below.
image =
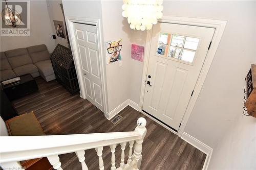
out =
[(122, 16), (133, 30), (151, 30), (163, 16), (163, 0), (123, 0)]

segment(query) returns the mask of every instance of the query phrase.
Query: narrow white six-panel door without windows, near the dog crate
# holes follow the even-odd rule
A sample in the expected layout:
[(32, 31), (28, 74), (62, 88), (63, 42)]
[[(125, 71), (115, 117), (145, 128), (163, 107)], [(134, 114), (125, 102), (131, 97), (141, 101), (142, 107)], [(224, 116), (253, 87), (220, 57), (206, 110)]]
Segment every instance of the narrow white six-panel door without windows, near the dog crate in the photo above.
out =
[(92, 25), (74, 23), (74, 31), (86, 99), (104, 112), (97, 28)]

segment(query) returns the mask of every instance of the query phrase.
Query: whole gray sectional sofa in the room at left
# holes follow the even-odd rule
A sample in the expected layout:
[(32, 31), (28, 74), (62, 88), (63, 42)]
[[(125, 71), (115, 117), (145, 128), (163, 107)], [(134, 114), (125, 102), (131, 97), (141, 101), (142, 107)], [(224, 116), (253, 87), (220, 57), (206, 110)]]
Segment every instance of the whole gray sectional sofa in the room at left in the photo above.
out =
[(1, 81), (25, 74), (31, 74), (32, 77), (41, 76), (47, 82), (55, 79), (45, 44), (1, 52)]

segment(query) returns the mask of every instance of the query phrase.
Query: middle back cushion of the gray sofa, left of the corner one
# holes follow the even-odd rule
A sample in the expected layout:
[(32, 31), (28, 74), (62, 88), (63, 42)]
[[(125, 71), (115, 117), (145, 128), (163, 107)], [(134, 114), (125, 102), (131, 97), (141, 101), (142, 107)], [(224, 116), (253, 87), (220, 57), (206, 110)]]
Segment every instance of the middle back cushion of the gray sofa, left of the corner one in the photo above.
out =
[(27, 48), (9, 50), (6, 51), (5, 54), (12, 68), (26, 64), (32, 64), (32, 60), (29, 56)]

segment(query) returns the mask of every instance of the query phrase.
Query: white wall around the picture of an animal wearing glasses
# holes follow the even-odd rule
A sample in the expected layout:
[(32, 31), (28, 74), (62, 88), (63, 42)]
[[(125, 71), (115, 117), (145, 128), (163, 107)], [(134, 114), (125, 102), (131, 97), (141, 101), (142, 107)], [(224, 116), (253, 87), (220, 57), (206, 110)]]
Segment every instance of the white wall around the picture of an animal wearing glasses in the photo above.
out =
[[(132, 68), (130, 67), (131, 29), (122, 17), (122, 1), (102, 1), (102, 27), (104, 41), (122, 38), (121, 60), (106, 65), (106, 82), (108, 87), (109, 112), (129, 99)], [(105, 48), (104, 48), (105, 49)]]

